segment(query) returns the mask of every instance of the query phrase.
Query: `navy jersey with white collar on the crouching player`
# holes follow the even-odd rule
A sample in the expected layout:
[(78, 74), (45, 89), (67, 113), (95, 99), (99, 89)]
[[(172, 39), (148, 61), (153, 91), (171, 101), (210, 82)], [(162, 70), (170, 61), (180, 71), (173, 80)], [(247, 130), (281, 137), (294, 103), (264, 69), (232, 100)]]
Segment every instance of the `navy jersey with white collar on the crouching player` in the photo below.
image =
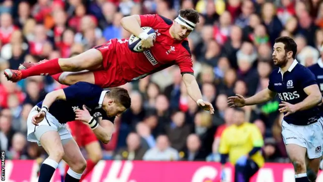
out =
[[(58, 100), (52, 103), (48, 112), (53, 115), (60, 123), (67, 123), (75, 120), (75, 110), (83, 109), (86, 106), (90, 114), (95, 117), (114, 122), (116, 117), (107, 117), (102, 109), (104, 96), (109, 90), (103, 90), (101, 87), (88, 83), (77, 82), (66, 88), (63, 88), (66, 101)], [(37, 104), (41, 108), (42, 102)]]

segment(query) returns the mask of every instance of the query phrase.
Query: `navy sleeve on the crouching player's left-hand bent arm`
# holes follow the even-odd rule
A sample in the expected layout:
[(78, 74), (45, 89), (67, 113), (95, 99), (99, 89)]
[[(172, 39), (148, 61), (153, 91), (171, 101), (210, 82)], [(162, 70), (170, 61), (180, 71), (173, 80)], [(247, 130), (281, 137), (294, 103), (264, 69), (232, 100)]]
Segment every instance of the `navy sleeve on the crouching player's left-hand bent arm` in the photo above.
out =
[(93, 85), (88, 82), (77, 82), (71, 86), (63, 88), (66, 101), (84, 100), (92, 98)]

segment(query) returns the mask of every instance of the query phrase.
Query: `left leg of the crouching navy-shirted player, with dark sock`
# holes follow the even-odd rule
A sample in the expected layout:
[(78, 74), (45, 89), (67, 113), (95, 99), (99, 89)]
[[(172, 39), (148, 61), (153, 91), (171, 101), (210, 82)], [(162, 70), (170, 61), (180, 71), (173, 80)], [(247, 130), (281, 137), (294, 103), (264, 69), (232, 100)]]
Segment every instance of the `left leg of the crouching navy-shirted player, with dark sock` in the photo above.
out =
[[(48, 126), (39, 126), (35, 132)], [(50, 127), (50, 126), (49, 126)], [(40, 144), (48, 154), (40, 166), (38, 181), (49, 181), (64, 156), (60, 135), (57, 131), (48, 130), (40, 136)]]

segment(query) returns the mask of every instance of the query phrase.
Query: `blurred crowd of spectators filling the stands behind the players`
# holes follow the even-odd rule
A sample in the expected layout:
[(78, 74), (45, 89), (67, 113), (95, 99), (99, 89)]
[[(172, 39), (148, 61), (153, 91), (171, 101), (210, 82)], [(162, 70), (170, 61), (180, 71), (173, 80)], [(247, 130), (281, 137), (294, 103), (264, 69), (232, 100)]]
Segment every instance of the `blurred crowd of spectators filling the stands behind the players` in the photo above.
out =
[[(248, 97), (267, 87), (275, 38), (293, 37), (297, 60), (305, 66), (317, 62), (323, 41), (319, 0), (0, 3), (0, 70), (68, 58), (111, 38), (128, 38), (130, 33), (120, 25), (124, 16), (157, 13), (173, 20), (181, 8), (200, 13), (200, 23), (188, 39), (203, 99), (213, 104), (215, 114), (201, 111), (190, 99), (176, 66), (123, 85), (130, 92), (131, 109), (115, 120), (112, 141), (102, 145), (104, 159), (219, 161), (221, 133), (234, 124), (227, 97)], [(27, 116), (46, 93), (62, 85), (44, 76), (12, 83), (1, 75), (0, 83), (0, 148), (9, 159), (36, 159), (43, 151), (26, 142)], [(256, 124), (263, 135), (266, 161), (288, 162), (278, 105), (277, 98), (243, 109), (246, 121)]]

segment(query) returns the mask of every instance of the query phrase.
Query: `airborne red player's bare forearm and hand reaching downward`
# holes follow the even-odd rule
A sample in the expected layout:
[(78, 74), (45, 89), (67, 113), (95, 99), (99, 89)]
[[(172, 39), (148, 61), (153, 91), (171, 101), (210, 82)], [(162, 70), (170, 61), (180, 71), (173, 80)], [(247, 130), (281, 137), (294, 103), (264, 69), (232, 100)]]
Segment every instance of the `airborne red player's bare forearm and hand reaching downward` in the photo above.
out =
[(199, 107), (205, 111), (209, 111), (210, 114), (214, 114), (214, 108), (211, 103), (203, 101), (201, 90), (194, 75), (190, 73), (183, 74), (183, 81), (185, 83), (188, 95), (197, 103)]

